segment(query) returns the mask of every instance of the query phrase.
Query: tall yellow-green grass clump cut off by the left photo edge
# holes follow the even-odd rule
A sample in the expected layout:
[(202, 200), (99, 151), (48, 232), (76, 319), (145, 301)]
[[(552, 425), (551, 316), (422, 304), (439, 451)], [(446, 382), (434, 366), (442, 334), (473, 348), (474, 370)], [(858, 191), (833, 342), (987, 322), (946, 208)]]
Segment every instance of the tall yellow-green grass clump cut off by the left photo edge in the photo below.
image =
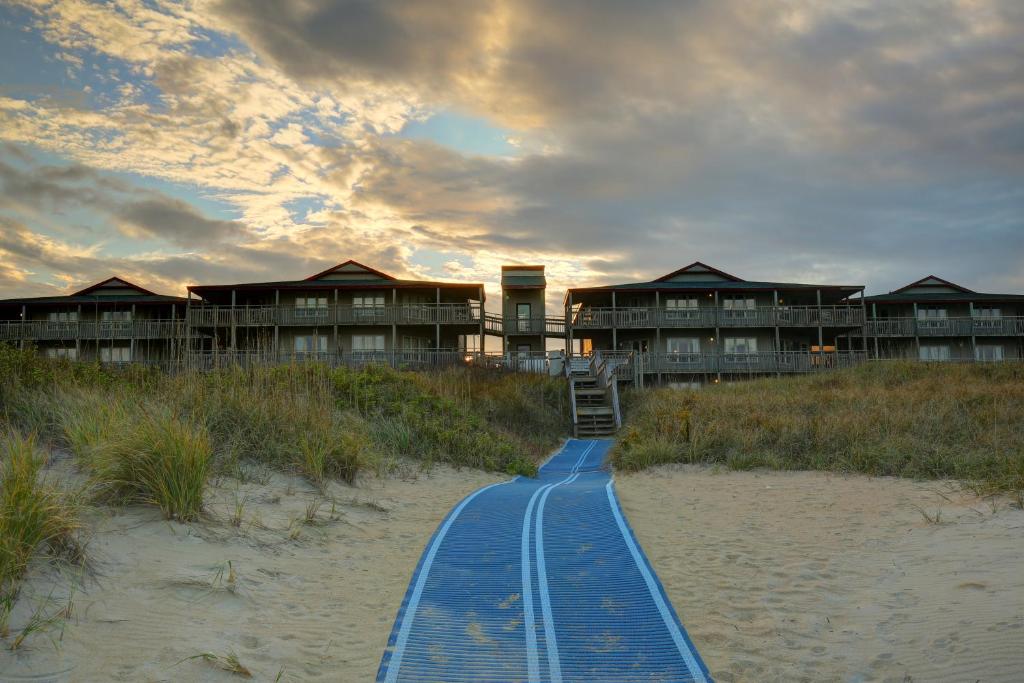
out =
[(37, 552), (82, 558), (77, 506), (47, 483), (42, 467), (34, 437), (0, 436), (0, 631), (6, 631), (19, 582)]

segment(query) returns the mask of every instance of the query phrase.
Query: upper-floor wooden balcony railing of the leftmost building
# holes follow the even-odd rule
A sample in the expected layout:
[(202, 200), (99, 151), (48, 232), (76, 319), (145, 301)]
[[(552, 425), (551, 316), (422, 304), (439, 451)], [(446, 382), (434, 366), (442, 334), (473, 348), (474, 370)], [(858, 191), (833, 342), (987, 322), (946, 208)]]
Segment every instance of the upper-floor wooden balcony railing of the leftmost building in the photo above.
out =
[(4, 321), (2, 341), (171, 339), (184, 336), (183, 321)]

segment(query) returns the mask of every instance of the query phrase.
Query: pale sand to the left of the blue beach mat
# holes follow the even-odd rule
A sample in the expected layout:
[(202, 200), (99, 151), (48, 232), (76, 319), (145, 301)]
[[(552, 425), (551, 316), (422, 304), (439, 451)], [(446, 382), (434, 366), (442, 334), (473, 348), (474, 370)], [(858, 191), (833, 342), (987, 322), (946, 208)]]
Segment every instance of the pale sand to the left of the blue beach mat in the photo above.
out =
[[(237, 652), (260, 681), (282, 669), (282, 681), (372, 681), (438, 522), (470, 492), (507, 478), (437, 467), (415, 480), (332, 484), (334, 510), (324, 503), (314, 524), (303, 519), (319, 497), (281, 475), (221, 482), (213, 520), (200, 524), (168, 523), (145, 508), (97, 513), (96, 575), (78, 589), (60, 647), (36, 636), (16, 655), (0, 652), (0, 681), (62, 670), (70, 673), (52, 680), (241, 680), (202, 660), (180, 663), (205, 651)], [(240, 528), (229, 519), (237, 498), (246, 501)], [(37, 572), (12, 627), (26, 605), (67, 584)]]

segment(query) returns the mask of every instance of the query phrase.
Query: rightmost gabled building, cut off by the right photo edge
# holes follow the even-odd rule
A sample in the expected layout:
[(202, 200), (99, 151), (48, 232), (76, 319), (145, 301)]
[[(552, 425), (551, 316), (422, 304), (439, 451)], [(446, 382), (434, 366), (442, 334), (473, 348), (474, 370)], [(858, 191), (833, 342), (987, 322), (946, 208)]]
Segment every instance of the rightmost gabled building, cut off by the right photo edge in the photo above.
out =
[(865, 301), (876, 358), (1024, 358), (1024, 295), (974, 292), (928, 275)]

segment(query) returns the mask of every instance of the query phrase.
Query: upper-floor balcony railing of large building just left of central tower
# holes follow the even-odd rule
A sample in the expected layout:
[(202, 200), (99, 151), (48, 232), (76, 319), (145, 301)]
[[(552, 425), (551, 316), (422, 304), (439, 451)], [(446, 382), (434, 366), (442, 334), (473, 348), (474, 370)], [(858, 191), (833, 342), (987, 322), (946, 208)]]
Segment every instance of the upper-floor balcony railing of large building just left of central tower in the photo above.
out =
[(479, 303), (387, 304), (384, 306), (194, 306), (193, 327), (335, 325), (479, 325)]

